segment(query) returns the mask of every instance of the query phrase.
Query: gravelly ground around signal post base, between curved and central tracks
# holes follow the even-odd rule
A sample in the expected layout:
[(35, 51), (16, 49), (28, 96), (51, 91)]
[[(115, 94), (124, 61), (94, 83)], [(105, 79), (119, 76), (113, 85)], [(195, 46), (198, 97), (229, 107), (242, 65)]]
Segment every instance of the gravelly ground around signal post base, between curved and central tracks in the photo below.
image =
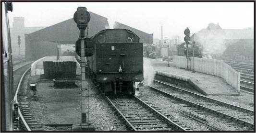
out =
[[(30, 77), (30, 76), (29, 76)], [(40, 124), (78, 124), (81, 122), (80, 87), (54, 89), (53, 82), (41, 80), (39, 77), (30, 77), (30, 82), (36, 82), (38, 96), (32, 96), (29, 89), (31, 114)], [(29, 83), (29, 82), (28, 82)], [(107, 102), (100, 96), (92, 83), (90, 87), (89, 121), (96, 131), (125, 130), (122, 122), (115, 116)], [(91, 89), (92, 88), (92, 89)], [(43, 126), (45, 131), (66, 131), (70, 127), (54, 128)]]

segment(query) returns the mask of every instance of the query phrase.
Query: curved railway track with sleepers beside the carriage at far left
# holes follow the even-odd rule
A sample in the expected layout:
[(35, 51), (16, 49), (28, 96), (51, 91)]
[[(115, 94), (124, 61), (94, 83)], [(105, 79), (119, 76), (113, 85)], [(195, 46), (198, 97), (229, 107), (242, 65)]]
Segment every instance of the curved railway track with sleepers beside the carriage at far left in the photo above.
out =
[[(37, 124), (35, 120), (32, 119), (32, 115), (29, 112), (29, 102), (27, 101), (27, 86), (24, 81), (26, 74), (30, 70), (30, 65), (32, 62), (25, 63), (23, 66), (19, 66), (13, 69), (13, 85), (15, 89), (15, 94), (13, 102), (17, 103), (18, 108), (16, 108), (18, 119), (14, 121), (14, 126), (18, 130), (26, 131), (40, 131), (42, 130), (41, 125)], [(19, 80), (17, 80), (19, 79)], [(18, 81), (18, 82), (17, 82)]]

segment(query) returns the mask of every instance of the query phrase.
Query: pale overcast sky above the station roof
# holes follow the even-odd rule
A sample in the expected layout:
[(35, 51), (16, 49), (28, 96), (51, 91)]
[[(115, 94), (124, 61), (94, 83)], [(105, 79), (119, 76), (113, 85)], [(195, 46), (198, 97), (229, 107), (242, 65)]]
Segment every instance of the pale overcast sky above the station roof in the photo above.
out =
[(218, 23), (223, 29), (253, 27), (253, 2), (13, 2), (13, 17), (24, 17), (25, 27), (50, 26), (70, 18), (78, 6), (85, 6), (110, 19), (146, 33), (163, 36), (181, 35), (186, 27), (191, 33)]

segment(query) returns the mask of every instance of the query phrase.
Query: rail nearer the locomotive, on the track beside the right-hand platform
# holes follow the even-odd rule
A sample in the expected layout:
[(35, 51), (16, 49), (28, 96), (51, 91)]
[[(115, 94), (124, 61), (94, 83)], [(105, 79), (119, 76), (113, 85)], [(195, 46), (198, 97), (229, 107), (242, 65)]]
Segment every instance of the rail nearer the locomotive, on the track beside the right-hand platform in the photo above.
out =
[[(142, 84), (145, 84), (145, 83), (142, 83)], [(146, 84), (145, 84), (145, 85), (146, 85)], [(146, 86), (148, 86), (148, 85), (146, 85)], [(169, 93), (166, 93), (166, 92), (164, 92), (164, 91), (162, 91), (162, 90), (159, 90), (159, 89), (156, 89), (156, 88), (154, 88), (154, 87), (151, 87), (151, 86), (148, 86), (148, 87), (149, 87), (149, 88), (152, 88), (152, 89), (154, 89), (154, 90), (157, 90), (157, 91), (159, 91), (159, 92), (161, 92), (161, 93), (163, 93), (163, 94), (165, 94), (165, 95), (167, 95), (167, 96), (170, 96), (170, 97), (172, 97), (172, 98), (174, 98), (174, 99), (176, 99), (176, 100), (181, 100), (181, 101), (183, 101), (183, 102), (185, 102), (185, 103), (187, 103), (187, 104), (189, 104), (189, 105), (194, 105), (194, 107), (198, 107), (198, 108), (200, 108), (200, 109), (204, 109), (204, 110), (213, 112), (213, 114), (219, 114), (220, 116), (224, 116), (224, 118), (229, 118), (229, 119), (231, 119), (231, 120), (235, 120), (236, 122), (240, 122), (240, 123), (242, 123), (242, 124), (244, 124), (244, 125), (248, 125), (248, 126), (250, 126), (250, 128), (253, 128), (253, 127), (254, 127), (254, 124), (253, 124), (253, 123), (246, 122), (246, 121), (244, 121), (244, 120), (241, 120), (241, 119), (239, 119), (239, 118), (233, 117), (233, 116), (228, 115), (228, 114), (226, 114), (226, 113), (222, 113), (222, 112), (220, 112), (220, 111), (216, 111), (216, 110), (210, 109), (210, 108), (208, 108), (208, 107), (199, 105), (199, 104), (197, 104), (197, 103), (194, 103), (194, 102), (191, 102), (191, 101), (188, 101), (188, 100), (184, 100), (184, 99), (182, 99), (182, 98), (176, 97), (176, 96), (174, 96), (174, 95), (171, 95), (171, 94), (169, 94)]]

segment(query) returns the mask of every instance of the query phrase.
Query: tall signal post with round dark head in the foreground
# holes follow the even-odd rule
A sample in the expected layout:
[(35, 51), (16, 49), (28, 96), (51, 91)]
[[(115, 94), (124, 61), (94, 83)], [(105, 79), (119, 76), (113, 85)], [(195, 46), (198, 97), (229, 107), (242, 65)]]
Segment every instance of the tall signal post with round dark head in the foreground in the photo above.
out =
[[(74, 13), (74, 21), (80, 30), (79, 38), (81, 40), (81, 123), (72, 125), (73, 131), (95, 131), (95, 127), (89, 122), (89, 88), (85, 81), (85, 56), (88, 56), (88, 50), (85, 53), (85, 29), (90, 21), (90, 13), (85, 7), (78, 7)], [(88, 60), (87, 60), (88, 61)], [(88, 73), (87, 73), (88, 75)]]

